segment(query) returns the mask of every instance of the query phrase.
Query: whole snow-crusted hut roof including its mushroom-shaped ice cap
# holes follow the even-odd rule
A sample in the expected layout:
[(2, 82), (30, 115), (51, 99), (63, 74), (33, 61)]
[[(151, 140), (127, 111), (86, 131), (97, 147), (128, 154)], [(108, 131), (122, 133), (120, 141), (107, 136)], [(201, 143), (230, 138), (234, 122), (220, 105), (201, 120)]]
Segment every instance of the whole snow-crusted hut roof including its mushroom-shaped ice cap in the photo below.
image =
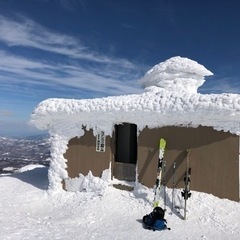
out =
[(140, 80), (143, 93), (95, 99), (41, 102), (31, 116), (39, 129), (82, 135), (81, 126), (111, 135), (114, 124), (135, 123), (141, 130), (162, 126), (211, 126), (240, 135), (240, 95), (197, 93), (213, 75), (188, 58), (173, 57), (154, 66)]

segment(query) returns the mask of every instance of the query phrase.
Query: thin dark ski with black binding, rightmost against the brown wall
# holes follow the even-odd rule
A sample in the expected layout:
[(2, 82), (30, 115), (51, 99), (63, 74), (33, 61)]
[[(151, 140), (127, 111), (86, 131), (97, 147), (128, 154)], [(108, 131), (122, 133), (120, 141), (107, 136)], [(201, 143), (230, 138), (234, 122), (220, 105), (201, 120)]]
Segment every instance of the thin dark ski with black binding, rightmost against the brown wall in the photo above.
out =
[(184, 217), (183, 219), (187, 219), (187, 200), (191, 197), (190, 193), (190, 177), (191, 177), (191, 168), (189, 167), (189, 154), (190, 150), (187, 150), (187, 160), (186, 160), (186, 173), (184, 177), (184, 190), (182, 191), (182, 197), (184, 198)]

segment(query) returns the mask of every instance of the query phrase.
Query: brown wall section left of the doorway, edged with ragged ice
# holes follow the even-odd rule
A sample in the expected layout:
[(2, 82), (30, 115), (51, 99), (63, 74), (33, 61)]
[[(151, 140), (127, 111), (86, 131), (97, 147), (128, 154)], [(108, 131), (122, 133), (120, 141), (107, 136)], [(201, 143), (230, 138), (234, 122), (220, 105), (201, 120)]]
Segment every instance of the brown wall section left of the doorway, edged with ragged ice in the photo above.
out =
[(67, 159), (67, 171), (70, 178), (87, 175), (91, 170), (94, 176), (100, 177), (102, 171), (109, 168), (111, 161), (110, 137), (106, 137), (105, 152), (96, 151), (96, 137), (92, 130), (85, 131), (81, 138), (72, 138), (64, 154)]

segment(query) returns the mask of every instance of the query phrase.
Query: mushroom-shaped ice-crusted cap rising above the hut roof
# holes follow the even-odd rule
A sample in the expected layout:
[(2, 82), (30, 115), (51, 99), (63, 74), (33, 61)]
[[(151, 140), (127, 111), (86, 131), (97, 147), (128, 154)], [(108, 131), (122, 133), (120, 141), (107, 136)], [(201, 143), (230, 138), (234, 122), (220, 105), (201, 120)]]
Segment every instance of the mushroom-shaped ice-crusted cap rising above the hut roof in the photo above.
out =
[(183, 57), (172, 57), (155, 65), (140, 80), (143, 87), (157, 86), (168, 91), (197, 93), (205, 76), (213, 75), (203, 65)]

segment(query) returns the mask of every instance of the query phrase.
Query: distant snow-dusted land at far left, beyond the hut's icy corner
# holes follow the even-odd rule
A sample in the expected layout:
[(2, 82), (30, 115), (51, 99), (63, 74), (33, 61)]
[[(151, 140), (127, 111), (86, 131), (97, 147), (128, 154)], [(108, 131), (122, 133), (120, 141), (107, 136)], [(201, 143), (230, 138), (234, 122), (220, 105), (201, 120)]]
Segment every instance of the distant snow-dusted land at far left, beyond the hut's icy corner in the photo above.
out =
[(49, 164), (50, 141), (48, 135), (23, 138), (0, 136), (0, 172), (18, 169), (28, 164)]

